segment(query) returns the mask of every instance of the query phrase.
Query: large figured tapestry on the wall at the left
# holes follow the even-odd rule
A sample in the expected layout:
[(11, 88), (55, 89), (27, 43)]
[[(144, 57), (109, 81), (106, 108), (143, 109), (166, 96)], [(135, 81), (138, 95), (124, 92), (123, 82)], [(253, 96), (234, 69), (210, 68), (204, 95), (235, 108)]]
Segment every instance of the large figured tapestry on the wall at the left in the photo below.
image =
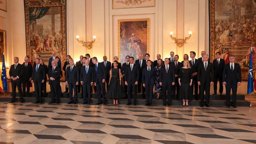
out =
[(24, 0), (26, 22), (26, 52), (31, 61), (41, 55), (45, 65), (52, 51), (66, 56), (66, 0)]

